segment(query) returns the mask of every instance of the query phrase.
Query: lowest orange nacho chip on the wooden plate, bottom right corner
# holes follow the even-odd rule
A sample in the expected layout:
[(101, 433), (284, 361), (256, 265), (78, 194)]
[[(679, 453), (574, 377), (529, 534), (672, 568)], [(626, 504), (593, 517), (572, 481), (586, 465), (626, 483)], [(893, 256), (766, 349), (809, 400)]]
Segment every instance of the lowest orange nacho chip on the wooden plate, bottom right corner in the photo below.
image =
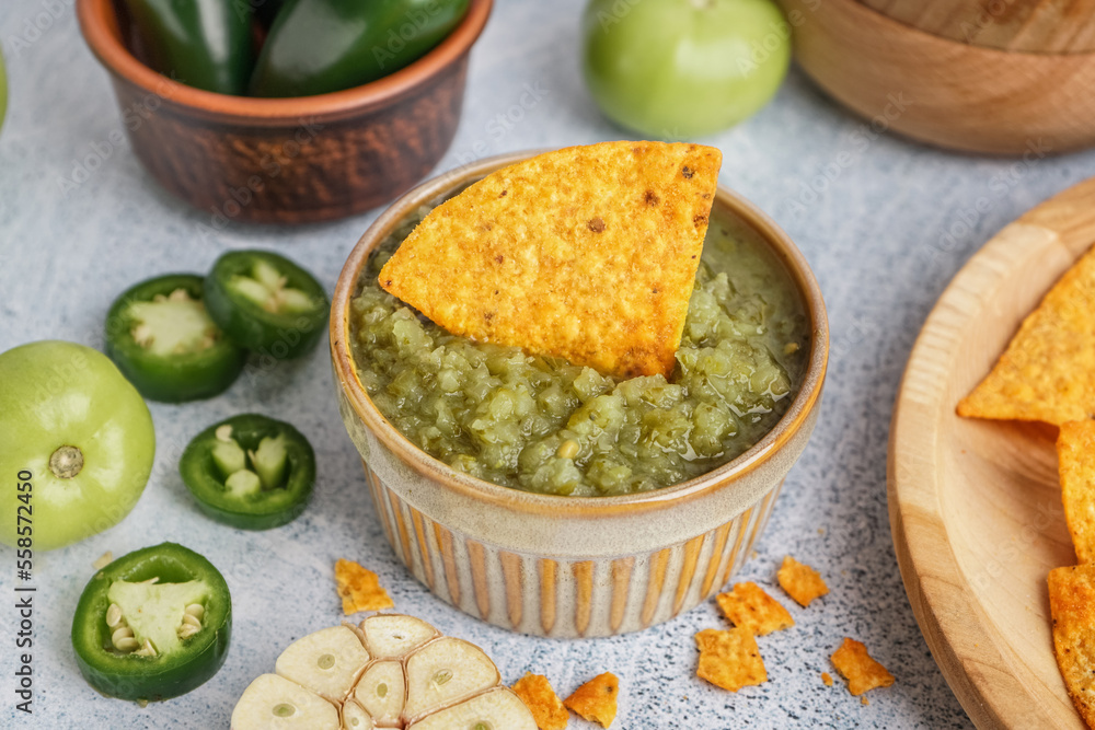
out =
[(1095, 728), (1095, 565), (1049, 571), (1053, 652), (1072, 704)]

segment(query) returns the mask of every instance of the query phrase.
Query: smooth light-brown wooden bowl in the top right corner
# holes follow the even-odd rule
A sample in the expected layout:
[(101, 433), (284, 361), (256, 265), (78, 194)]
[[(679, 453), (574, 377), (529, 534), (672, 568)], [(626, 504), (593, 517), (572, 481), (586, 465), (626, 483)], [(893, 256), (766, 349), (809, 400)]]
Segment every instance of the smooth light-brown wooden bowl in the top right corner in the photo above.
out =
[[(868, 120), (868, 137), (894, 130), (938, 147), (1024, 155), (1030, 162), (1095, 144), (1093, 51), (1068, 44), (1063, 47), (1072, 53), (1053, 50), (1064, 42), (1045, 37), (1041, 53), (973, 45), (857, 0), (779, 2), (794, 26), (799, 66)], [(950, 27), (927, 26), (940, 33)]]

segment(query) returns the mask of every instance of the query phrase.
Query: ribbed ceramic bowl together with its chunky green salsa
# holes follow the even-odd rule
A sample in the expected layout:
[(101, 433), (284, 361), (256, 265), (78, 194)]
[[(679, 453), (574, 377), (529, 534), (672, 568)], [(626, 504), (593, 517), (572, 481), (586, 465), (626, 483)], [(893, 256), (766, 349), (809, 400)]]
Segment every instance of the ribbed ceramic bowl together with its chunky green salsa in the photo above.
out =
[(525, 634), (639, 630), (751, 553), (817, 418), (825, 304), (794, 243), (723, 187), (668, 380), (474, 343), (380, 289), (433, 206), (531, 154), (420, 185), (358, 242), (331, 311), (341, 412), (393, 549), (438, 596)]

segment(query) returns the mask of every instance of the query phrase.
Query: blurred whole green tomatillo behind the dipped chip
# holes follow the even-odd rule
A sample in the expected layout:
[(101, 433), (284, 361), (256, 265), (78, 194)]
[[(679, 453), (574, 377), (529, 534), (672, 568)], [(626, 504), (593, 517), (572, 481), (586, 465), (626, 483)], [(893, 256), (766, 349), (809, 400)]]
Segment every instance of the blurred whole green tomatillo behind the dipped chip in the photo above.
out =
[(791, 26), (772, 0), (591, 0), (586, 85), (613, 121), (657, 139), (726, 129), (772, 99)]

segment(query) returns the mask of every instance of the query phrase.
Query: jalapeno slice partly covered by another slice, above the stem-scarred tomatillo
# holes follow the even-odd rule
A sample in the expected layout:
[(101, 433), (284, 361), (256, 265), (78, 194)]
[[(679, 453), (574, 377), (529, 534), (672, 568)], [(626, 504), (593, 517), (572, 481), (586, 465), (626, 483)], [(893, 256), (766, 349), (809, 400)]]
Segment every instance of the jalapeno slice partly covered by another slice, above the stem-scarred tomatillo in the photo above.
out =
[(217, 395), (246, 362), (209, 316), (203, 279), (193, 274), (148, 279), (118, 297), (104, 349), (141, 395), (165, 403)]

